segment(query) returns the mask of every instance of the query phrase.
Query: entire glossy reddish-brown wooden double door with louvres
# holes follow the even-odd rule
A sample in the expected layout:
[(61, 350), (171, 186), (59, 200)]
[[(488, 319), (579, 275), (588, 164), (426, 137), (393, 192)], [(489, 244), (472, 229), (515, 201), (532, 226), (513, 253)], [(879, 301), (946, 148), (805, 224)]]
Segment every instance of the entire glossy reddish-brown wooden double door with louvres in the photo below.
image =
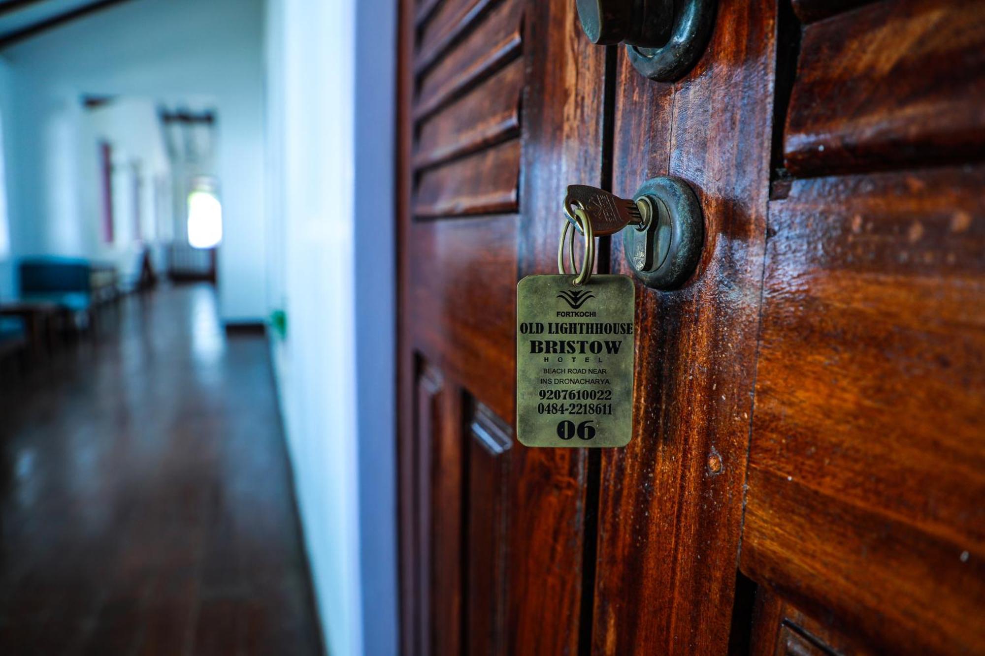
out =
[[(985, 653), (985, 5), (720, 0), (675, 83), (573, 0), (400, 7), (404, 653)], [(564, 187), (667, 174), (632, 441), (522, 446)]]

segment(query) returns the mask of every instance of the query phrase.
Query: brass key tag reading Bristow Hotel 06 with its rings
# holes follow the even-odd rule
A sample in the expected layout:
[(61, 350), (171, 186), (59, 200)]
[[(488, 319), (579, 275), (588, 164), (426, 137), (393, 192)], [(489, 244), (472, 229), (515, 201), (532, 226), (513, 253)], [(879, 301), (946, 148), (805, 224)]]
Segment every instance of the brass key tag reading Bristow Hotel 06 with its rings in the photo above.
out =
[(635, 288), (627, 276), (592, 275), (595, 225), (612, 233), (607, 209), (565, 202), (558, 275), (516, 286), (516, 435), (526, 446), (625, 446), (632, 435)]

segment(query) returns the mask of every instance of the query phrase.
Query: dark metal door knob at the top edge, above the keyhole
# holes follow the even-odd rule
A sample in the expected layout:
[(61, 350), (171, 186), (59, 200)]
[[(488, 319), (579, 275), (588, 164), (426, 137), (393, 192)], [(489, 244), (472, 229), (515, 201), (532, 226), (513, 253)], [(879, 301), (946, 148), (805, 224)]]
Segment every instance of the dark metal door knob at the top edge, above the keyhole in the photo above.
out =
[(658, 82), (683, 77), (700, 59), (716, 0), (577, 0), (592, 43), (624, 42), (637, 71)]

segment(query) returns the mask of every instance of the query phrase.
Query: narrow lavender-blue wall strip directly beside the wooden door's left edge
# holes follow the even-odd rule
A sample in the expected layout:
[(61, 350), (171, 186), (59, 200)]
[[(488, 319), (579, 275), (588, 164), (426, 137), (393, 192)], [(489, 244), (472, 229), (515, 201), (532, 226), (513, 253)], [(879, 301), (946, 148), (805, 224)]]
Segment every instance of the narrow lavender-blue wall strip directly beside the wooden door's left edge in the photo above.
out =
[(362, 628), (366, 654), (398, 651), (397, 3), (354, 0), (356, 371)]

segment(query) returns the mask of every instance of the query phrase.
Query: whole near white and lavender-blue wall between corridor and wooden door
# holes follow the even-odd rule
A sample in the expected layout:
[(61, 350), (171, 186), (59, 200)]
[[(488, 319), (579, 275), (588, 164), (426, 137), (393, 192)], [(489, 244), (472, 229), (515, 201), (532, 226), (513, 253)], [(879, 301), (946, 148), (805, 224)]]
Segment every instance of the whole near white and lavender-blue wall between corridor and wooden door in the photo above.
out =
[(397, 652), (395, 7), (270, 0), (268, 297), (328, 651)]

